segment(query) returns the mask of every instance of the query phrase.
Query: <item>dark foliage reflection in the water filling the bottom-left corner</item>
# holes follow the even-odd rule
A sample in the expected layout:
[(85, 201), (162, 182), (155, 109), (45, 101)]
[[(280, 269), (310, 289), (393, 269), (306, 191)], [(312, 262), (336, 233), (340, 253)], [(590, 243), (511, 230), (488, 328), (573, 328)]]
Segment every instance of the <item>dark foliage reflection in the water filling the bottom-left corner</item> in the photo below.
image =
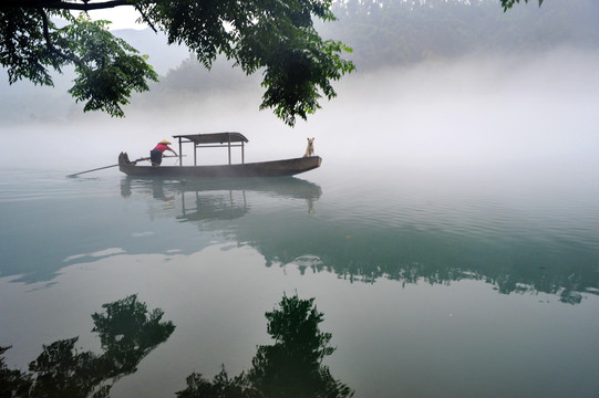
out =
[[(109, 397), (112, 385), (135, 371), (140, 362), (175, 329), (172, 322), (161, 322), (162, 310), (148, 313), (147, 306), (137, 302), (137, 295), (102, 307), (105, 313), (92, 315), (92, 332), (100, 335), (102, 355), (80, 353), (74, 348), (79, 337), (44, 345), (42, 354), (29, 365), (34, 379), (33, 374), (8, 370), (0, 357), (0, 396)], [(0, 355), (6, 349), (0, 348)]]

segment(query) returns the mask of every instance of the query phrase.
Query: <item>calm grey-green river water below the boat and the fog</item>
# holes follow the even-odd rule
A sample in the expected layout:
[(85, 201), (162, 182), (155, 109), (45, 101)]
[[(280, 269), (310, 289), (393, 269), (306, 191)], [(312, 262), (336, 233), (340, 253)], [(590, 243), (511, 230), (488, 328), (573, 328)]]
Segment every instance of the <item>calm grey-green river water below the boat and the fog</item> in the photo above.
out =
[[(297, 294), (323, 313), (323, 364), (355, 397), (599, 396), (596, 176), (370, 171), (1, 171), (6, 366), (28, 373), (73, 337), (100, 356), (92, 314), (136, 294), (175, 328), (102, 383), (175, 397), (192, 373), (250, 369), (273, 342), (265, 313)], [(47, 371), (76, 378), (69, 366)]]

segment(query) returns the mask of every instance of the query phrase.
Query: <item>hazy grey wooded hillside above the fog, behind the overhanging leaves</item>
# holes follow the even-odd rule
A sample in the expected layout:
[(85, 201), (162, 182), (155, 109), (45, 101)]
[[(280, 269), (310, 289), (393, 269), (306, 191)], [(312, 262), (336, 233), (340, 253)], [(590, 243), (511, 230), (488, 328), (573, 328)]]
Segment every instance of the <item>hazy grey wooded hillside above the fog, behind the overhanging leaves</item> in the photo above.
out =
[[(359, 73), (473, 54), (599, 44), (599, 28), (592, 20), (599, 15), (596, 0), (546, 1), (540, 8), (523, 3), (508, 12), (498, 0), (345, 0), (337, 1), (333, 11), (338, 20), (322, 23), (319, 31), (353, 49), (348, 57)], [(206, 71), (189, 56), (144, 97), (153, 102), (175, 93), (209, 96), (217, 91), (251, 90), (256, 83), (224, 60)]]

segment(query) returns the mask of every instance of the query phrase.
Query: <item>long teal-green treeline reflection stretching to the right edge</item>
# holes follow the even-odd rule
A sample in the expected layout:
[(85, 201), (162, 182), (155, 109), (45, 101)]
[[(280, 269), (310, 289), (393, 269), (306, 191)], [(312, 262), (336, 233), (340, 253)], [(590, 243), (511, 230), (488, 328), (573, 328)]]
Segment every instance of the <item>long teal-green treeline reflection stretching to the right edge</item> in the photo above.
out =
[(407, 223), (314, 222), (296, 214), (278, 214), (268, 223), (260, 218), (248, 220), (235, 230), (237, 241), (249, 242), (267, 265), (297, 266), (301, 273), (308, 268), (314, 273), (332, 272), (350, 282), (389, 279), (403, 285), (447, 285), (475, 280), (502, 294), (548, 293), (569, 304), (587, 294), (599, 295), (599, 253), (585, 237), (547, 245), (537, 238), (544, 231), (512, 233), (464, 235)]

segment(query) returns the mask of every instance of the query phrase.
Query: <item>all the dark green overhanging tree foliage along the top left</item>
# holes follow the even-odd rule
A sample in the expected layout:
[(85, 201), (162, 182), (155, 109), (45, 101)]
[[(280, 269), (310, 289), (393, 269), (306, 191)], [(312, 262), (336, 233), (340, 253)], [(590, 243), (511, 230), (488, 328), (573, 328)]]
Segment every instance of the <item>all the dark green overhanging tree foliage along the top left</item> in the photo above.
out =
[[(69, 91), (84, 111), (123, 116), (133, 91), (147, 91), (156, 73), (132, 46), (107, 31), (107, 21), (74, 18), (69, 11), (134, 7), (140, 20), (185, 44), (206, 67), (218, 54), (246, 74), (262, 72), (260, 108), (272, 108), (288, 125), (335, 96), (332, 82), (354, 66), (341, 57), (351, 49), (323, 40), (313, 19), (332, 21), (332, 0), (3, 0), (0, 64), (9, 82), (27, 78), (52, 85), (49, 70), (75, 66)], [(59, 28), (52, 18), (68, 25)]]

